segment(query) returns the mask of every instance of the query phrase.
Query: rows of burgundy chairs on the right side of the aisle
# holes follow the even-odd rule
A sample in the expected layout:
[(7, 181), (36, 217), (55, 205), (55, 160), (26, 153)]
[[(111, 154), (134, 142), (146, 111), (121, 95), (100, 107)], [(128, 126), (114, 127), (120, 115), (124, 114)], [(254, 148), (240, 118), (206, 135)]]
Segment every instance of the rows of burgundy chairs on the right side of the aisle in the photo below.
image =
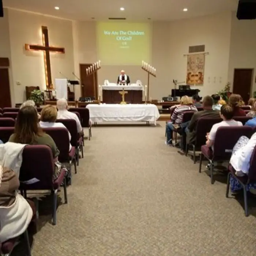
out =
[[(194, 112), (185, 112), (183, 116), (182, 122), (186, 122), (191, 120)], [(243, 125), (249, 120), (251, 117), (234, 117), (234, 120), (240, 121)], [(189, 147), (193, 148), (193, 160), (195, 161), (195, 151), (200, 151), (200, 163), (199, 163), (199, 173), (202, 171), (202, 160), (206, 158), (210, 162), (210, 178), (211, 184), (214, 184), (214, 176), (213, 176), (213, 168), (215, 161), (229, 161), (233, 148), (237, 143), (238, 139), (241, 136), (246, 136), (251, 138), (251, 136), (256, 132), (256, 127), (251, 128), (248, 126), (242, 127), (220, 127), (217, 130), (213, 150), (212, 148), (207, 147), (206, 144), (206, 133), (210, 132), (212, 125), (219, 123), (221, 118), (210, 118), (210, 117), (201, 117), (198, 120), (197, 128), (196, 128), (196, 142), (194, 144), (187, 144), (186, 146), (186, 155), (188, 154)], [(178, 132), (176, 129), (174, 132)], [(177, 134), (176, 134), (177, 138)], [(235, 175), (234, 168), (229, 164), (228, 166), (228, 178), (227, 178), (227, 188), (226, 188), (226, 197), (229, 195), (230, 189), (230, 177), (233, 176), (238, 182), (242, 185), (244, 190), (244, 209), (245, 216), (249, 215), (248, 212), (248, 200), (247, 200), (247, 192), (246, 186), (250, 183), (256, 182), (256, 147), (253, 151), (249, 173), (246, 176), (238, 177)]]

